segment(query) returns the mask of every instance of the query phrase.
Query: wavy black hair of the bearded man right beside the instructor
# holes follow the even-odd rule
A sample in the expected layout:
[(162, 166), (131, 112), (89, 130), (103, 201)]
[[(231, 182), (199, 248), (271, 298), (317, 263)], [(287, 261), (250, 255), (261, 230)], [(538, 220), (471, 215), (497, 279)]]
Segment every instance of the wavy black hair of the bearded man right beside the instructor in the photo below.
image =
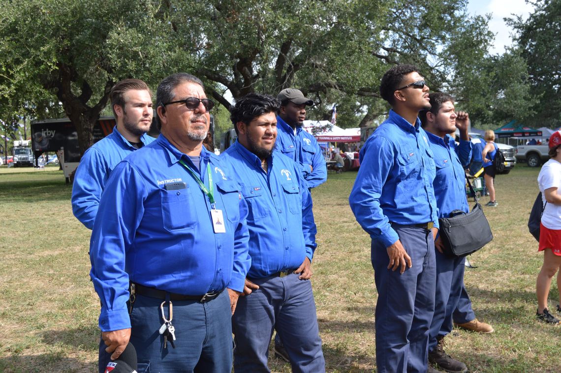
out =
[(236, 104), (230, 109), (230, 119), (234, 130), (238, 133), (238, 122), (249, 125), (253, 119), (267, 113), (277, 115), (280, 110), (280, 102), (271, 95), (250, 93), (236, 100)]

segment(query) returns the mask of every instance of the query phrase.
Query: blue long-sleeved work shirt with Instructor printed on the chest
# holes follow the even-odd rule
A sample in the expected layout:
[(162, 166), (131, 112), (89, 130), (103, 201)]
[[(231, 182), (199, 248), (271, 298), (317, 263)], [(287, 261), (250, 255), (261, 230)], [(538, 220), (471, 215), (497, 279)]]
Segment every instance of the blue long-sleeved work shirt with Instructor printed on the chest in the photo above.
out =
[(243, 291), (247, 205), (232, 169), (205, 148), (201, 172), (226, 233), (214, 233), (209, 198), (183, 160), (191, 159), (163, 136), (127, 156), (109, 176), (91, 232), (91, 279), (102, 301), (102, 331), (130, 328), (129, 282), (171, 293), (202, 295), (225, 287)]

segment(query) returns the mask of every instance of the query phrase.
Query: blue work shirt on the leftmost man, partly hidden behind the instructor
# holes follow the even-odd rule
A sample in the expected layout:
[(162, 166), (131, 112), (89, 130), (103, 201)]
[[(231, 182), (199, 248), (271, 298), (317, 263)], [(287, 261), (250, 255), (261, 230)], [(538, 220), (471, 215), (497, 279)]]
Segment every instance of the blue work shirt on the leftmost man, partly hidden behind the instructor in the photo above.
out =
[[(146, 133), (140, 136), (144, 145), (154, 140)], [(135, 150), (115, 126), (112, 133), (92, 145), (82, 156), (72, 185), (72, 213), (86, 228), (94, 227), (99, 200), (109, 174), (117, 163)]]

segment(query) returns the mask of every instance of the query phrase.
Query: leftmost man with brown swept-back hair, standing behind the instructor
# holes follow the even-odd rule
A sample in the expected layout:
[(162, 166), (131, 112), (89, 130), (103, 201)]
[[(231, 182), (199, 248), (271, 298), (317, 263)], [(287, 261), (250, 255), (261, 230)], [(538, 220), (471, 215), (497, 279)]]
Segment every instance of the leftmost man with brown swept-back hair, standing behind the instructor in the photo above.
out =
[(111, 89), (111, 107), (117, 125), (91, 146), (80, 160), (72, 186), (72, 212), (86, 228), (94, 226), (99, 199), (109, 174), (128, 154), (154, 141), (146, 135), (152, 123), (152, 93), (138, 79), (119, 81)]

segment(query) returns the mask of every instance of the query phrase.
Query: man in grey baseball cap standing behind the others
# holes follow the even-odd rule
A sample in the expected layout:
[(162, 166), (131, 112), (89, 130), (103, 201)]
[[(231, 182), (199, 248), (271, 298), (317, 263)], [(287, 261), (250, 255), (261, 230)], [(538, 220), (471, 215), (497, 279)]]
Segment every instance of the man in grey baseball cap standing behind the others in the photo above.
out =
[(308, 188), (315, 188), (327, 180), (327, 165), (318, 140), (302, 129), (306, 105), (311, 106), (314, 102), (293, 88), (280, 91), (277, 99), (280, 101), (280, 112), (275, 149), (296, 162)]

